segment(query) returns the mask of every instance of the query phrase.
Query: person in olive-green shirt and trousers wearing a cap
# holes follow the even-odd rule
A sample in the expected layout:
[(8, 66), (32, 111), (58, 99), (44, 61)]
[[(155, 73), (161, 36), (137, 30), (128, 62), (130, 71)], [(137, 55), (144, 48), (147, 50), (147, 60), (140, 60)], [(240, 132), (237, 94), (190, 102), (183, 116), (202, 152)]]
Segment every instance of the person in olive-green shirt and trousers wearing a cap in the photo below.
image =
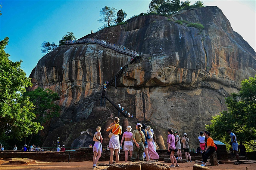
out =
[(144, 142), (145, 135), (141, 132), (142, 124), (137, 123), (136, 130), (133, 131), (133, 156), (131, 157), (131, 161), (134, 162), (137, 159), (137, 154), (139, 153), (139, 161), (144, 161), (143, 153), (144, 153)]

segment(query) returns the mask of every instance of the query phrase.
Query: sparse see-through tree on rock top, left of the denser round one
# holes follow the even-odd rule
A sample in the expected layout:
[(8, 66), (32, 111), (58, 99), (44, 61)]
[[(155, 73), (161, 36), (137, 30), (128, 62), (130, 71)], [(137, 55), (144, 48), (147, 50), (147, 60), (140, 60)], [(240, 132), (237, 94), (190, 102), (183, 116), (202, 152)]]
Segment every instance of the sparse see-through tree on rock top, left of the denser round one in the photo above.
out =
[(115, 15), (116, 15), (116, 10), (115, 8), (113, 7), (103, 7), (101, 10), (100, 10), (100, 18), (98, 20), (99, 23), (104, 23), (104, 26), (106, 26), (108, 23), (107, 26), (111, 26), (111, 25), (114, 25), (115, 21), (116, 21), (116, 18), (115, 18)]

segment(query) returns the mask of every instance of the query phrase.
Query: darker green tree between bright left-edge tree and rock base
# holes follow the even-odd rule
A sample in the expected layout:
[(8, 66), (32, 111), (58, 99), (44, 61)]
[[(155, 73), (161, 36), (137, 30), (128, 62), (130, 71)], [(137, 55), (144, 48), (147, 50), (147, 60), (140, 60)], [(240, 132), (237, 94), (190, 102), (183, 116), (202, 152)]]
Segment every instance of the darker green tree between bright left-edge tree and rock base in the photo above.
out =
[(54, 101), (59, 99), (58, 93), (39, 87), (34, 91), (25, 92), (23, 96), (29, 97), (29, 100), (36, 106), (33, 110), (36, 115), (36, 122), (43, 124), (52, 117), (60, 115), (60, 106), (54, 104)]

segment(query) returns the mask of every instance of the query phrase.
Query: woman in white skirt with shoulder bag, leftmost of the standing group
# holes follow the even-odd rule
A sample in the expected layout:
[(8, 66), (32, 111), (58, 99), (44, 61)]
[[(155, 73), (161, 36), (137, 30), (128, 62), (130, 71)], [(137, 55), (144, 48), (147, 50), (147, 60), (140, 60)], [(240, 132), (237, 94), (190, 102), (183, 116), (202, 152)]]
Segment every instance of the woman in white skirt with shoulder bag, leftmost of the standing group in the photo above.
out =
[[(93, 145), (93, 158), (92, 158), (92, 162), (93, 162), (93, 166), (92, 168), (96, 167), (97, 162), (99, 160), (99, 158), (101, 157), (101, 153), (102, 153), (102, 145), (101, 145), (101, 140), (103, 140), (102, 136), (101, 136), (101, 127), (97, 126), (96, 128), (96, 132), (93, 136), (93, 141), (95, 141), (94, 145)], [(97, 157), (96, 157), (97, 156)]]

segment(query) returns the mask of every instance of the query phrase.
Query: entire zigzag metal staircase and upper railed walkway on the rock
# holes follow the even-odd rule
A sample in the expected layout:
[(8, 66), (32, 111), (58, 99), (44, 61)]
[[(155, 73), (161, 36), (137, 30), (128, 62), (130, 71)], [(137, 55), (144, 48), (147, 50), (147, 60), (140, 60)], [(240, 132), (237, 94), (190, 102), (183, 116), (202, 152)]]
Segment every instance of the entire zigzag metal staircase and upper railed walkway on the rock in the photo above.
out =
[[(115, 82), (115, 87), (116, 87), (116, 82), (117, 82), (117, 79), (123, 74), (123, 71), (126, 70), (126, 68), (128, 68), (128, 65), (129, 64), (132, 64), (134, 62), (137, 62), (137, 61), (140, 61), (140, 58), (142, 57), (143, 53), (139, 53), (137, 51), (134, 51), (134, 50), (130, 50), (122, 45), (118, 45), (118, 44), (112, 44), (112, 43), (109, 43), (109, 42), (106, 42), (104, 40), (100, 40), (100, 39), (95, 39), (95, 38), (84, 38), (82, 40), (78, 40), (78, 41), (75, 41), (75, 40), (70, 40), (70, 41), (65, 41), (65, 44), (82, 44), (82, 43), (94, 43), (94, 44), (100, 44), (102, 45), (103, 47), (106, 47), (106, 48), (110, 48), (112, 50), (115, 50), (119, 53), (122, 53), (122, 54), (126, 54), (126, 55), (129, 55), (131, 56), (131, 59), (130, 61), (128, 61), (126, 63), (126, 65), (124, 65), (120, 71), (118, 71), (118, 73), (108, 82), (106, 83), (103, 87), (102, 87), (102, 91), (101, 91), (101, 100), (100, 100), (100, 105), (101, 106), (106, 106), (106, 99), (108, 100), (108, 102), (110, 102), (117, 110), (118, 110), (118, 117), (120, 116), (120, 113), (123, 114), (123, 116), (125, 117), (128, 117), (128, 114), (124, 113), (123, 111), (121, 111), (119, 109), (119, 107), (117, 107), (117, 105), (114, 104), (114, 102), (112, 102), (108, 96), (107, 96), (107, 89), (108, 89), (108, 86), (110, 86), (112, 83)], [(106, 87), (106, 90), (104, 92), (104, 87)]]

